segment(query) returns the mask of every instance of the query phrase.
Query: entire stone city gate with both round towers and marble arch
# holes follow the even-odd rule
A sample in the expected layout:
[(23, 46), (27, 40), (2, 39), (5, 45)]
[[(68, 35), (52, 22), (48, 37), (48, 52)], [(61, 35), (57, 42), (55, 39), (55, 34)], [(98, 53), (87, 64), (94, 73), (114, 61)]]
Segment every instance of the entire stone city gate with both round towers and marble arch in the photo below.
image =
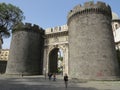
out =
[(62, 50), (63, 74), (68, 73), (70, 78), (118, 79), (120, 72), (111, 19), (109, 5), (86, 2), (70, 10), (68, 27), (63, 25), (43, 30), (31, 24), (15, 26), (6, 74), (56, 73), (58, 51)]

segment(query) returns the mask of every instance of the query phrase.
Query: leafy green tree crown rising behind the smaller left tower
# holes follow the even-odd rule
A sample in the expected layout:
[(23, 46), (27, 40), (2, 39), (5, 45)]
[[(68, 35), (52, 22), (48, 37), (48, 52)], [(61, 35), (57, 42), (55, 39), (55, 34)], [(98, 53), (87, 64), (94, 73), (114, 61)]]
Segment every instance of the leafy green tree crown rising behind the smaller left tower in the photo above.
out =
[(0, 37), (10, 37), (14, 25), (22, 22), (23, 12), (12, 4), (0, 3)]

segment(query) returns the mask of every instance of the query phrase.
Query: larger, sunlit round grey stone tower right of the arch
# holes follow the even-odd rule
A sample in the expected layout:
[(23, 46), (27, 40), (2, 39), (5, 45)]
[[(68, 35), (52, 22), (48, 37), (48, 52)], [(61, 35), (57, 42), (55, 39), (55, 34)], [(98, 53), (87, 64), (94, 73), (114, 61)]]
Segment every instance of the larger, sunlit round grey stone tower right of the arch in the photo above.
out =
[(71, 78), (105, 80), (119, 76), (111, 19), (111, 8), (103, 2), (86, 2), (69, 12)]

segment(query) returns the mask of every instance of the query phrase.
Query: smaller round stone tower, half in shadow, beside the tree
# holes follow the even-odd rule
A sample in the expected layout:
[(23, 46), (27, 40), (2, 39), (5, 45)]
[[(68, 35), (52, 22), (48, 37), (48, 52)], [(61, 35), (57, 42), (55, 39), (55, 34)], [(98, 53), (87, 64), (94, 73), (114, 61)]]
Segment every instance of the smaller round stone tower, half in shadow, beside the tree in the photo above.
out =
[(30, 23), (14, 28), (6, 74), (42, 74), (43, 36), (44, 30)]

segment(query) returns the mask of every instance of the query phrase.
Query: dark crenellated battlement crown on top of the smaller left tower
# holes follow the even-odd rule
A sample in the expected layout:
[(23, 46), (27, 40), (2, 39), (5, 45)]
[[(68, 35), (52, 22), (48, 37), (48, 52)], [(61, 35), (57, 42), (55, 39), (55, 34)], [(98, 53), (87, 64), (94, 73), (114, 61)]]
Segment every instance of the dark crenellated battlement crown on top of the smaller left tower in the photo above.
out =
[(13, 33), (16, 31), (32, 31), (32, 32), (39, 32), (39, 33), (44, 33), (45, 30), (41, 27), (39, 27), (36, 24), (31, 24), (31, 23), (19, 23), (16, 26), (14, 26)]

